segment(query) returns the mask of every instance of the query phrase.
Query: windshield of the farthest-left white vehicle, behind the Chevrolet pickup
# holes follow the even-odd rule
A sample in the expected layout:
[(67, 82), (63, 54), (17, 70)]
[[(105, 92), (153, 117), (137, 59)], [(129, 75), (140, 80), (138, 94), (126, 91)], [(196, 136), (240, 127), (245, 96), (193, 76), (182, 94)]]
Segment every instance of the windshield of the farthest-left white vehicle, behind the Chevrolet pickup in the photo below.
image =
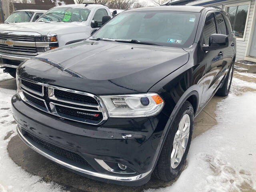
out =
[(12, 13), (5, 22), (13, 23), (13, 22), (30, 22), (31, 17), (34, 12), (31, 11), (17, 11)]

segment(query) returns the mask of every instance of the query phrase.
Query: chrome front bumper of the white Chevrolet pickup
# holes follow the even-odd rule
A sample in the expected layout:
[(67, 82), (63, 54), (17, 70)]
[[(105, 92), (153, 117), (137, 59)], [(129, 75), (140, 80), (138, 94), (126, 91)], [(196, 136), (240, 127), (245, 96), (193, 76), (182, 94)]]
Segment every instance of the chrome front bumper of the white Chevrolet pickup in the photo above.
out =
[(10, 53), (0, 52), (0, 58), (1, 58), (0, 66), (10, 67), (10, 68), (17, 68), (18, 65), (17, 64), (12, 64), (12, 60), (14, 60), (14, 61), (25, 61), (25, 60), (30, 59), (32, 57), (34, 57), (34, 55), (29, 56), (29, 55), (19, 55), (19, 54), (10, 54)]

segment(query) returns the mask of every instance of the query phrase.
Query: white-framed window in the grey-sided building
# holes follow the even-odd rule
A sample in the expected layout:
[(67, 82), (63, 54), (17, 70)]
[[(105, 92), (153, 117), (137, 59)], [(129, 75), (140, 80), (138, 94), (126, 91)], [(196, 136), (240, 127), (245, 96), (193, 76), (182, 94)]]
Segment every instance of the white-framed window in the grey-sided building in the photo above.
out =
[(250, 3), (231, 4), (226, 7), (226, 12), (230, 16), (230, 21), (236, 38), (244, 39), (248, 12), (250, 11)]

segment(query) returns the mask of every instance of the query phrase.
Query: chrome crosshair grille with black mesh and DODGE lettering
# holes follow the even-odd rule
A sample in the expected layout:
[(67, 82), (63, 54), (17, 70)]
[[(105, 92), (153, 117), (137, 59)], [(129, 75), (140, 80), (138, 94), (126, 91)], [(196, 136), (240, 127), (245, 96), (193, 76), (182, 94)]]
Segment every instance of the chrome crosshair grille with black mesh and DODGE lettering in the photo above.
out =
[(107, 120), (102, 102), (93, 94), (51, 86), (23, 77), (19, 77), (18, 82), (22, 100), (44, 112), (94, 125)]

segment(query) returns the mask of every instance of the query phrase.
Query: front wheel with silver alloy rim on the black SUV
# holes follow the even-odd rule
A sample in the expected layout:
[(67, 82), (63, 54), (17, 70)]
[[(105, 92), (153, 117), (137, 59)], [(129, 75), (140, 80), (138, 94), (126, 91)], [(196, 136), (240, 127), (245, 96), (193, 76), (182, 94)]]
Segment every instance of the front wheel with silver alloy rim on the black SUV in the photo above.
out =
[(188, 154), (193, 126), (194, 110), (186, 101), (174, 119), (152, 176), (164, 181), (178, 176)]

